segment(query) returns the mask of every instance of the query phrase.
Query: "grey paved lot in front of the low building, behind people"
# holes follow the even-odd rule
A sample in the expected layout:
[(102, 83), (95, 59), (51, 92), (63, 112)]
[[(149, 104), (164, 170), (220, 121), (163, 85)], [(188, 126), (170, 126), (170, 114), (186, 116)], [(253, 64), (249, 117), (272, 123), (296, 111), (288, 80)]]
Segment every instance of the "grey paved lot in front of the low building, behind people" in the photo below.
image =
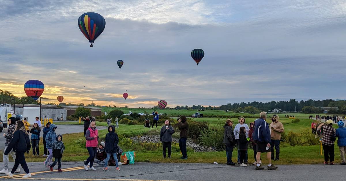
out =
[[(56, 125), (57, 129), (55, 130), (56, 134), (67, 134), (67, 133), (82, 133), (84, 132), (83, 125)], [(97, 126), (98, 129), (107, 129), (106, 126)], [(0, 150), (3, 150), (5, 147), (6, 138), (2, 136), (3, 133), (7, 133), (7, 129), (4, 129), (2, 133), (0, 133)], [(41, 131), (40, 137), (43, 137), (43, 133)], [(29, 138), (31, 138), (31, 133), (29, 133)], [(43, 144), (43, 143), (40, 143)]]

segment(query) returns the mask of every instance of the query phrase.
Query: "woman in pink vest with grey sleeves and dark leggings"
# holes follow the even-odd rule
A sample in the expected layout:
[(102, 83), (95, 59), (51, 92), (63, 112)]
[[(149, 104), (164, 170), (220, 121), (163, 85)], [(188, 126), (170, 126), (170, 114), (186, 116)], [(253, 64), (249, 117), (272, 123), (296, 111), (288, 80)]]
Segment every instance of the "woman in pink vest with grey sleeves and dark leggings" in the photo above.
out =
[(90, 162), (90, 170), (96, 170), (92, 164), (94, 163), (96, 150), (97, 150), (97, 144), (99, 143), (97, 140), (99, 138), (98, 130), (96, 129), (96, 123), (95, 121), (92, 121), (89, 128), (85, 132), (85, 139), (86, 139), (86, 149), (89, 152), (89, 157), (85, 162), (84, 169), (88, 169), (88, 164)]

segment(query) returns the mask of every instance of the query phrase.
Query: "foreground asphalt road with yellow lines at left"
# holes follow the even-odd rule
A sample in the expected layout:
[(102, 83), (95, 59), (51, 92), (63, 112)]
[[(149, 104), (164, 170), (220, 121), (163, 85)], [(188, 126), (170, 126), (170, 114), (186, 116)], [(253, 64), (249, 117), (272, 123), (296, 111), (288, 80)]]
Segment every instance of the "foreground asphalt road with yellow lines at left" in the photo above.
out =
[[(12, 167), (13, 163), (10, 164)], [(101, 167), (96, 171), (85, 171), (82, 162), (63, 162), (64, 172), (58, 173), (45, 168), (43, 163), (28, 163), (35, 180), (275, 180), (275, 181), (318, 181), (345, 180), (346, 165), (277, 165), (275, 171), (255, 170), (255, 166), (226, 166), (224, 164), (186, 164), (186, 163), (136, 163), (120, 165), (120, 171), (110, 166), (108, 172)], [(266, 166), (265, 166), (266, 167)], [(55, 168), (56, 169), (56, 168)], [(23, 171), (17, 174), (21, 178)], [(5, 180), (6, 175), (0, 175)]]

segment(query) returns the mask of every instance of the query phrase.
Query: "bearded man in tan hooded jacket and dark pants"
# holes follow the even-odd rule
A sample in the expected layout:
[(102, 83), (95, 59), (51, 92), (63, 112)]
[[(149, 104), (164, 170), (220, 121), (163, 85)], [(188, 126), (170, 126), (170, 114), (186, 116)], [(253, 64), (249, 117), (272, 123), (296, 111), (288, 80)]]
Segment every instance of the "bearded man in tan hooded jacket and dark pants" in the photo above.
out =
[(279, 160), (280, 155), (280, 139), (281, 139), (281, 133), (284, 132), (283, 125), (279, 121), (279, 116), (273, 115), (272, 117), (272, 123), (270, 124), (270, 138), (272, 142), (270, 143), (270, 148), (272, 150), (272, 160), (274, 160), (274, 146), (276, 151), (275, 160)]

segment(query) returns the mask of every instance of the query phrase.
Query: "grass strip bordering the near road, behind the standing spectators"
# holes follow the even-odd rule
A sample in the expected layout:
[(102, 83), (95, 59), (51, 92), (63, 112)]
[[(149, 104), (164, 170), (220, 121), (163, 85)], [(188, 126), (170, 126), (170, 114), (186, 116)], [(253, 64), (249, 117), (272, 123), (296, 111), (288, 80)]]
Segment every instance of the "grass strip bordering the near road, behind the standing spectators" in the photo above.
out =
[[(76, 122), (72, 122), (75, 124)], [(60, 124), (60, 123), (58, 123)], [(66, 124), (66, 123), (65, 123)], [(291, 123), (293, 124), (293, 123)], [(300, 123), (301, 124), (301, 123)], [(97, 123), (97, 125), (102, 125), (102, 123)], [(106, 124), (107, 125), (107, 124)], [(142, 125), (119, 125), (120, 128), (117, 128), (116, 131), (118, 134), (125, 135), (142, 135), (148, 132), (148, 128), (143, 128)], [(293, 126), (292, 126), (293, 127)], [(153, 128), (155, 129), (155, 128)], [(156, 128), (160, 129), (160, 127)], [(57, 130), (58, 133), (58, 130)], [(103, 138), (107, 134), (107, 130), (100, 130), (100, 138)], [(158, 137), (158, 136), (157, 136)], [(88, 152), (85, 148), (85, 138), (83, 133), (73, 133), (73, 134), (64, 134), (63, 142), (65, 144), (65, 152), (63, 154), (63, 161), (83, 161), (88, 157)], [(138, 143), (122, 143), (119, 145), (124, 151), (136, 151), (136, 161), (137, 162), (174, 162), (174, 163), (213, 163), (218, 162), (219, 164), (226, 163), (226, 152), (208, 152), (208, 153), (198, 153), (193, 152), (191, 149), (188, 149), (188, 160), (181, 160), (179, 157), (179, 145), (172, 145), (172, 159), (163, 159), (161, 144), (151, 144), (151, 145), (141, 145)], [(43, 155), (43, 142), (42, 138), (40, 141), (40, 155)], [(151, 150), (147, 151), (144, 147), (150, 147)], [(340, 161), (340, 153), (338, 147), (335, 145), (335, 163)], [(323, 162), (323, 155), (320, 155), (320, 146), (289, 146), (282, 147), (280, 149), (280, 161), (275, 161), (275, 164), (316, 164)], [(266, 164), (265, 154), (262, 154), (263, 163)], [(12, 159), (10, 157), (10, 159)], [(43, 156), (32, 156), (32, 151), (29, 154), (26, 154), (27, 162), (43, 162), (46, 157)], [(233, 151), (233, 161), (237, 159), (237, 150)], [(2, 161), (2, 157), (0, 157)], [(249, 163), (254, 162), (253, 150), (249, 148), (248, 150), (248, 161)]]

